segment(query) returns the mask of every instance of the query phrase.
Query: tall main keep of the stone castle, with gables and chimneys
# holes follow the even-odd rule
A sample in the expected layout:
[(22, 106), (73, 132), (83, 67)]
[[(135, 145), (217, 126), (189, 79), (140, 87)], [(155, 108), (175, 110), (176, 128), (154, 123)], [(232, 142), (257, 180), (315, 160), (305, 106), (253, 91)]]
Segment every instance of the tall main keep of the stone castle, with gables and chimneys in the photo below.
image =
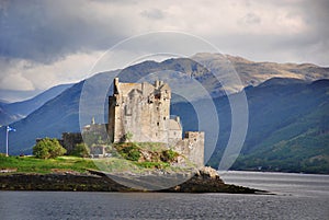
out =
[(109, 99), (109, 136), (112, 142), (124, 140), (166, 142), (170, 121), (171, 91), (168, 84), (121, 83), (114, 80), (114, 94)]

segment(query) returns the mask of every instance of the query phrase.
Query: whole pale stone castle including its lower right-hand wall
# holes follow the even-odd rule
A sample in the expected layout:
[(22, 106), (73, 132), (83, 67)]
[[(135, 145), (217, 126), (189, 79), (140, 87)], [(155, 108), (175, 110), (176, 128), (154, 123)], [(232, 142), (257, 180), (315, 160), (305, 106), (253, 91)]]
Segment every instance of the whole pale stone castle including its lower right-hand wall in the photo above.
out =
[(163, 81), (155, 84), (123, 83), (114, 79), (109, 97), (107, 132), (111, 142), (161, 142), (185, 155), (197, 166), (204, 164), (204, 132), (186, 131), (182, 138), (180, 118), (170, 118), (171, 89)]

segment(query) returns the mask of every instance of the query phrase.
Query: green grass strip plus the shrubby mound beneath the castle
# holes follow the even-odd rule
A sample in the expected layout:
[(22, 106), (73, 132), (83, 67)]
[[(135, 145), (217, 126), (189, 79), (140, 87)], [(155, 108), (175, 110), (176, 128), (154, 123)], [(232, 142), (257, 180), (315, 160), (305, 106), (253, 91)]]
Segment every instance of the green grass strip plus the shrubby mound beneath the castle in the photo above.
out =
[[(143, 173), (155, 169), (167, 171), (183, 171), (189, 167), (171, 166), (179, 153), (168, 149), (162, 143), (116, 143), (117, 157), (103, 159), (86, 159), (79, 157), (58, 157), (56, 159), (36, 159), (35, 157), (5, 157), (0, 154), (0, 170), (16, 169), (19, 173), (52, 173), (76, 171), (87, 172), (87, 169), (109, 173)], [(150, 159), (141, 157), (147, 152)], [(113, 152), (112, 152), (113, 153)], [(140, 159), (140, 160), (139, 160)], [(192, 167), (192, 165), (191, 165)]]

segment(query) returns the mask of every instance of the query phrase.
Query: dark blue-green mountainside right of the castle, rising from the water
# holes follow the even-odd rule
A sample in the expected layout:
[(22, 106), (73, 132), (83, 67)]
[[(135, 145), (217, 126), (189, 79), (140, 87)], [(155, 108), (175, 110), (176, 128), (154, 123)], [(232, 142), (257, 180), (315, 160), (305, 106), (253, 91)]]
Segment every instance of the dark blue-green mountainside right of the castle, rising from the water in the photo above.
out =
[[(269, 80), (248, 88), (249, 125), (241, 154), (232, 170), (329, 174), (329, 80), (310, 83)], [(216, 100), (220, 118), (229, 118), (224, 99)], [(223, 120), (222, 137), (209, 164), (218, 166), (230, 128)]]

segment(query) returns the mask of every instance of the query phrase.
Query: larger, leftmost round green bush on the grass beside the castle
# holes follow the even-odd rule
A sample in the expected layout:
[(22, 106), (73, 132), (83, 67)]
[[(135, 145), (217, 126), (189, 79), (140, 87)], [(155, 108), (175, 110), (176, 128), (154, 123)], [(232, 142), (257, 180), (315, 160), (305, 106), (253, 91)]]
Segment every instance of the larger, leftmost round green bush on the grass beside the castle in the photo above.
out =
[(56, 138), (44, 138), (33, 147), (33, 155), (39, 159), (50, 159), (64, 155), (66, 149), (60, 146)]

